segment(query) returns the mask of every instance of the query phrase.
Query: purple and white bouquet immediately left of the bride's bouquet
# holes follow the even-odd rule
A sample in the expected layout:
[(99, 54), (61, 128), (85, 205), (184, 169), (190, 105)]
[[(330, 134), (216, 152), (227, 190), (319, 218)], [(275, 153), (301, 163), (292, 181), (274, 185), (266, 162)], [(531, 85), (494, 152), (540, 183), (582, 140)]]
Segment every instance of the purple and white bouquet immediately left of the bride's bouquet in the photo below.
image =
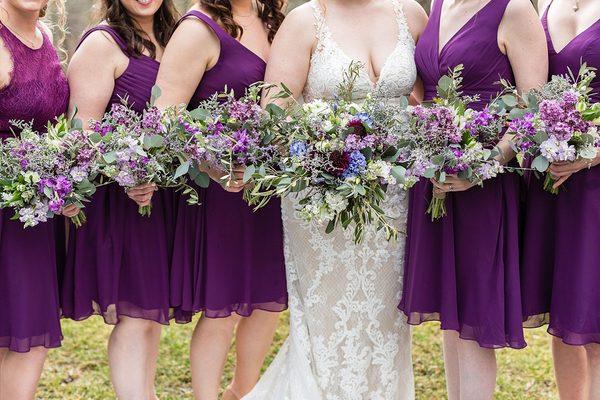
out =
[[(277, 131), (285, 112), (274, 105), (261, 108), (263, 87), (253, 85), (241, 98), (233, 92), (215, 94), (195, 110), (170, 112), (165, 125), (182, 142), (176, 177), (188, 174), (200, 187), (207, 187), (208, 176), (200, 172), (203, 165), (222, 170), (224, 182), (244, 171), (243, 180), (248, 182), (266, 164), (277, 162)], [(196, 199), (192, 196), (190, 202)]]

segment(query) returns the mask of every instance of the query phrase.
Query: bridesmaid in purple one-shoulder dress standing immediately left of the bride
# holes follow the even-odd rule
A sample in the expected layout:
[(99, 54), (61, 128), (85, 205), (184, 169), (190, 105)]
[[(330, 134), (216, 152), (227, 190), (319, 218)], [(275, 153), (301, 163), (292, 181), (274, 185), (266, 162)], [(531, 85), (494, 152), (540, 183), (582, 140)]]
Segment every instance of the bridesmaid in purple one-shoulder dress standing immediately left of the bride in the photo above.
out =
[[(280, 0), (201, 0), (187, 13), (165, 51), (158, 75), (159, 106), (190, 108), (222, 91), (237, 95), (261, 81), (270, 43), (283, 20)], [(184, 65), (185, 68), (181, 66)], [(256, 384), (278, 322), (287, 307), (283, 233), (278, 202), (253, 213), (241, 180), (214, 182), (202, 205), (180, 199), (171, 282), (180, 318), (204, 314), (192, 338), (194, 394), (217, 399), (236, 332), (237, 365), (226, 400)]]

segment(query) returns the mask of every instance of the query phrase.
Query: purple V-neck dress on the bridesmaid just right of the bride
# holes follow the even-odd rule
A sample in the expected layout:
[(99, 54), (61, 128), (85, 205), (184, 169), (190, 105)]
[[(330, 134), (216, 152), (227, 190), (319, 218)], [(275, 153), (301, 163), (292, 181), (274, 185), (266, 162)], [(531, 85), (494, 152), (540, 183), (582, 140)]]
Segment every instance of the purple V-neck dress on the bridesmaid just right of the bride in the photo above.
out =
[[(482, 109), (514, 82), (508, 57), (497, 44), (510, 0), (491, 0), (439, 48), (443, 0), (433, 4), (415, 58), (425, 100), (450, 68), (463, 64), (463, 92), (479, 95)], [(444, 330), (481, 347), (525, 347), (519, 280), (519, 178), (503, 174), (483, 187), (448, 193), (448, 215), (432, 222), (427, 205), (432, 184), (410, 191), (404, 295), (399, 308), (411, 324), (439, 320)]]

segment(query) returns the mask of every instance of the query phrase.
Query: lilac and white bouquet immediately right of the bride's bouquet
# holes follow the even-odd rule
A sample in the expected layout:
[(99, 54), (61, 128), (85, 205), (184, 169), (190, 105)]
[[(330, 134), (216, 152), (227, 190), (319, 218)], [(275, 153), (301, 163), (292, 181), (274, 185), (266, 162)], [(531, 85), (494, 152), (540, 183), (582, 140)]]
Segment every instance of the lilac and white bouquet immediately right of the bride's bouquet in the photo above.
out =
[[(432, 104), (412, 108), (412, 172), (438, 182), (457, 175), (481, 185), (504, 170), (494, 158), (504, 119), (493, 103), (482, 111), (468, 108), (477, 98), (461, 95), (460, 73), (459, 66), (440, 79)], [(427, 213), (432, 220), (446, 215), (444, 193), (434, 192)]]

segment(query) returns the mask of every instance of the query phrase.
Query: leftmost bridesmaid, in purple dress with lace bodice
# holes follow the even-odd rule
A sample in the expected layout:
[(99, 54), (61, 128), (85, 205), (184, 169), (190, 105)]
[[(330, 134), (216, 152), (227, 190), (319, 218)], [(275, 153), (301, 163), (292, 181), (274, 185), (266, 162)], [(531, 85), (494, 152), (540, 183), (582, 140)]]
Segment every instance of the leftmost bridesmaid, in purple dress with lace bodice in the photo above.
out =
[[(64, 2), (57, 1), (64, 16)], [(52, 34), (40, 21), (47, 0), (0, 0), (0, 140), (12, 119), (42, 130), (67, 110), (69, 86)], [(0, 210), (0, 398), (33, 399), (48, 349), (59, 347), (55, 218), (23, 229)]]

